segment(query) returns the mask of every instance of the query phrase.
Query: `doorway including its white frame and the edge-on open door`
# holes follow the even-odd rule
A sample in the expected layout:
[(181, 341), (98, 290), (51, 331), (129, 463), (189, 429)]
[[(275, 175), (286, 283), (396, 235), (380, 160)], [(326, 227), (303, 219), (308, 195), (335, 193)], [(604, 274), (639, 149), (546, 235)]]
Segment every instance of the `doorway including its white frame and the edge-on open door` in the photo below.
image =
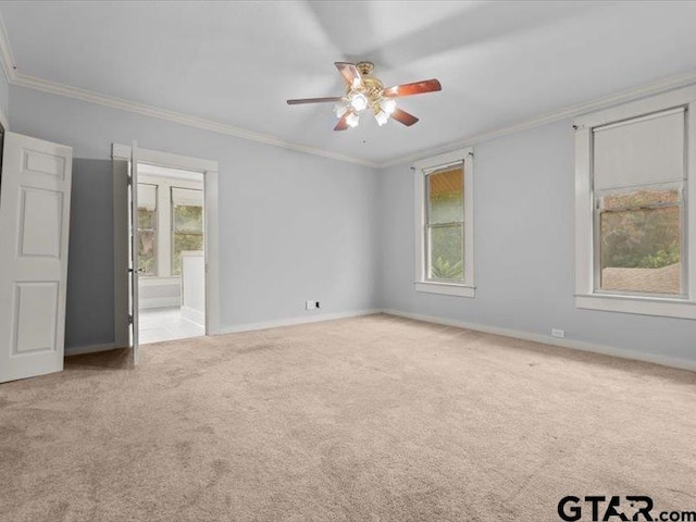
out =
[(141, 313), (144, 343), (220, 330), (217, 162), (135, 142), (112, 158), (114, 337), (137, 364)]

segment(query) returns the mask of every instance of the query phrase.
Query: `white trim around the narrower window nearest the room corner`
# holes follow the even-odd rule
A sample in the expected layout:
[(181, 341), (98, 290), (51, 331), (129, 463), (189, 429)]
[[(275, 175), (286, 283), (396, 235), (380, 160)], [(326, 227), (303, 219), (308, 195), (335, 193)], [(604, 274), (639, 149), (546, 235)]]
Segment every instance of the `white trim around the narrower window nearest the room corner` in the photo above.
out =
[[(415, 171), (415, 281), (417, 291), (475, 297), (474, 285), (474, 162), (473, 148), (452, 150), (419, 160)], [(425, 175), (435, 167), (463, 161), (464, 167), (464, 282), (440, 283), (425, 278)]]

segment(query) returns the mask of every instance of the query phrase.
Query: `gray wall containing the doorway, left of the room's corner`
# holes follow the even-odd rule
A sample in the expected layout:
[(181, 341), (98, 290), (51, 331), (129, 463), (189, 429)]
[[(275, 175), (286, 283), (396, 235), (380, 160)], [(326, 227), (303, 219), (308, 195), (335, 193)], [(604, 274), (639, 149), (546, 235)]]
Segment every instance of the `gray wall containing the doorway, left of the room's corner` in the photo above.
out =
[[(113, 141), (135, 139), (144, 148), (220, 162), (221, 327), (374, 307), (374, 170), (10, 89), (13, 130), (70, 145), (77, 159), (108, 160)], [(82, 291), (73, 297), (90, 299)], [(320, 300), (322, 310), (306, 312), (306, 299)], [(80, 343), (88, 340), (101, 338)]]

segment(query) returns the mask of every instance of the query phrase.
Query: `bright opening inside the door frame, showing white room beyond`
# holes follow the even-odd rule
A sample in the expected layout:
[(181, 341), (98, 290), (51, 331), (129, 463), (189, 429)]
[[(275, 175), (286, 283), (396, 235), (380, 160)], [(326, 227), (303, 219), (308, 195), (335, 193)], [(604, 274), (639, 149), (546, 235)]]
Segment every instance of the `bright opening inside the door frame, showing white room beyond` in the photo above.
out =
[(206, 209), (200, 172), (138, 163), (140, 344), (206, 335)]

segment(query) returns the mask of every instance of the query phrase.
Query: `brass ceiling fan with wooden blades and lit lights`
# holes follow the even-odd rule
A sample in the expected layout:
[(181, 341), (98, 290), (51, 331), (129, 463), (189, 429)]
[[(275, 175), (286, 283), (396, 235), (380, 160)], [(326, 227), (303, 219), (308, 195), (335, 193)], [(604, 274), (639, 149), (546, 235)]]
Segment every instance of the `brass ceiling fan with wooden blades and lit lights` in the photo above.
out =
[(370, 110), (380, 126), (389, 121), (389, 117), (410, 127), (418, 122), (418, 117), (396, 107), (395, 98), (402, 96), (422, 95), (442, 90), (443, 87), (435, 78), (412, 84), (395, 85), (386, 89), (378, 78), (372, 76), (374, 64), (372, 62), (347, 63), (336, 62), (338, 72), (346, 80), (346, 95), (331, 98), (303, 98), (287, 100), (289, 105), (300, 103), (326, 103), (336, 102), (334, 112), (338, 123), (334, 130), (346, 130), (348, 127), (357, 127), (360, 123), (360, 113)]

